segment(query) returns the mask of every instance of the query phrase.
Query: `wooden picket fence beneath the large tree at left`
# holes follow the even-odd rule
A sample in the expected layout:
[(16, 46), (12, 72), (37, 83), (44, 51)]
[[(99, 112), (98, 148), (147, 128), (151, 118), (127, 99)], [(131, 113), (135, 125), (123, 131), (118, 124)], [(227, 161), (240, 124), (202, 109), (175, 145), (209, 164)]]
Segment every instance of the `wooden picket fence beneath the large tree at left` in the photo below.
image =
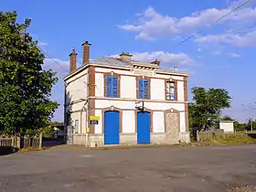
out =
[(0, 146), (10, 146), (18, 149), (24, 148), (34, 148), (41, 149), (42, 148), (42, 134), (39, 136), (12, 136), (5, 137), (0, 135)]

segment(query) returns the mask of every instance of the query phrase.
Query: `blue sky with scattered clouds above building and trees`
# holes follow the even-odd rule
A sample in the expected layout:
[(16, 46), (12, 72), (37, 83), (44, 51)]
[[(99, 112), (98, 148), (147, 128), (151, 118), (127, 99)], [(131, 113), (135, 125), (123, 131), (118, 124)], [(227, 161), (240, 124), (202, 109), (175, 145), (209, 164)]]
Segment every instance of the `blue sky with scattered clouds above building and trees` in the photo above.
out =
[(192, 87), (226, 89), (232, 101), (223, 115), (244, 122), (256, 116), (255, 1), (216, 21), (245, 1), (2, 0), (1, 11), (16, 11), (18, 23), (32, 18), (27, 32), (51, 58), (44, 69), (58, 72), (51, 96), (60, 103), (54, 121), (63, 122), (69, 53), (76, 48), (80, 65), (81, 44), (88, 40), (91, 59), (125, 51), (133, 59), (159, 59), (165, 68), (188, 72), (189, 101)]

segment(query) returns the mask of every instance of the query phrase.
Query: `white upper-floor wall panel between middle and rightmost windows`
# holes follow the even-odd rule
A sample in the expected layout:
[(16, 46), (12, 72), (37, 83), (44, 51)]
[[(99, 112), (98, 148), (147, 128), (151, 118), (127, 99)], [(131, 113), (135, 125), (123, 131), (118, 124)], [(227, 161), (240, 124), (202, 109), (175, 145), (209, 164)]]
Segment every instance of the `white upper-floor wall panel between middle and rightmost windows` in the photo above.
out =
[(150, 80), (151, 100), (165, 100), (165, 80)]

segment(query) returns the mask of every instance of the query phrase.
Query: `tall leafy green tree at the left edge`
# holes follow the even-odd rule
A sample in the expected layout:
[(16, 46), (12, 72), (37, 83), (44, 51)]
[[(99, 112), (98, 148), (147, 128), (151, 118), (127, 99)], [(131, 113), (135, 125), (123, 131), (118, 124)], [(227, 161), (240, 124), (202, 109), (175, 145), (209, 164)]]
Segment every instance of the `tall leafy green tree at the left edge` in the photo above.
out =
[(59, 106), (49, 100), (57, 78), (42, 69), (44, 55), (16, 16), (0, 12), (0, 126), (4, 133), (33, 133)]

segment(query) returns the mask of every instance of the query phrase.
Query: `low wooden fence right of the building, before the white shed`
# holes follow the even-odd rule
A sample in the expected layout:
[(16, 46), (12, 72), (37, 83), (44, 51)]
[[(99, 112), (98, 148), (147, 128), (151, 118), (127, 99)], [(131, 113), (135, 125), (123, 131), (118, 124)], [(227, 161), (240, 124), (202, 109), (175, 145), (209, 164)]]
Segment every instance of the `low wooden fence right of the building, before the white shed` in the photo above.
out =
[(211, 139), (225, 139), (234, 135), (250, 134), (256, 132), (240, 131), (234, 133), (224, 133), (224, 132), (199, 132), (197, 130), (197, 142), (207, 142)]

